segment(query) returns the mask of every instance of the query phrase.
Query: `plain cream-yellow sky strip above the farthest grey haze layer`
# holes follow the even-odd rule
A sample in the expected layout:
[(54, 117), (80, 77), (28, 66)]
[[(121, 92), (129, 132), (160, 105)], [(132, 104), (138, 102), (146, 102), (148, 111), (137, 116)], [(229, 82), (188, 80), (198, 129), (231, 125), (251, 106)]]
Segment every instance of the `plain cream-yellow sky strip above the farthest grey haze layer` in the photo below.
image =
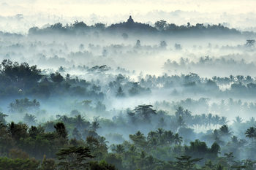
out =
[(255, 12), (255, 0), (1, 0), (1, 15), (48, 13), (55, 15), (118, 15), (152, 10), (198, 12)]

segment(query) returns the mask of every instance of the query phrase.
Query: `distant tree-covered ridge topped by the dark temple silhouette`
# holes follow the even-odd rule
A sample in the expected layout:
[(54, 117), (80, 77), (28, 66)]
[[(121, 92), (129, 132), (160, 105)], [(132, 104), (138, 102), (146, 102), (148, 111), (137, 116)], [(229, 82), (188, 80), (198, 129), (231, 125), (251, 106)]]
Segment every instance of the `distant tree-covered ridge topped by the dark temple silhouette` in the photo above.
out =
[(186, 36), (255, 36), (254, 32), (241, 32), (235, 28), (227, 28), (226, 26), (218, 25), (205, 25), (197, 23), (192, 26), (190, 23), (183, 26), (176, 26), (174, 23), (167, 23), (165, 20), (159, 20), (154, 23), (154, 27), (145, 23), (138, 23), (129, 16), (127, 22), (112, 24), (105, 26), (104, 23), (96, 23), (93, 26), (88, 26), (86, 23), (75, 21), (70, 25), (62, 25), (56, 23), (48, 26), (47, 28), (33, 27), (29, 29), (29, 34), (88, 34), (90, 32), (125, 32), (137, 34), (162, 34), (162, 35), (186, 35)]

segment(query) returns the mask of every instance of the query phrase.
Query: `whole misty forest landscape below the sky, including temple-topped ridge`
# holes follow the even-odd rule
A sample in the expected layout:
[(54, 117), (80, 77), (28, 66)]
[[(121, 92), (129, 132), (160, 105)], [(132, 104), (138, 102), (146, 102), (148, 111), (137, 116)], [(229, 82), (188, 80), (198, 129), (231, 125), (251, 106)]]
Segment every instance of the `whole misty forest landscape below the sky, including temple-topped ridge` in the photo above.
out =
[(0, 169), (255, 169), (255, 52), (131, 16), (1, 32)]

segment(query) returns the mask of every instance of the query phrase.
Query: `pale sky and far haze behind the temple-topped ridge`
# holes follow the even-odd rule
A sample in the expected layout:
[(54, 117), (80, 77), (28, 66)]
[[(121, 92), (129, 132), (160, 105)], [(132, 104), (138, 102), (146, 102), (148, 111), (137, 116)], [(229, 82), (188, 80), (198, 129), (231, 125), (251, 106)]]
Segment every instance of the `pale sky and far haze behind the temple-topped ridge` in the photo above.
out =
[(0, 31), (26, 33), (31, 26), (74, 20), (110, 25), (129, 15), (152, 25), (164, 19), (178, 25), (226, 23), (255, 31), (255, 7), (255, 0), (0, 0)]

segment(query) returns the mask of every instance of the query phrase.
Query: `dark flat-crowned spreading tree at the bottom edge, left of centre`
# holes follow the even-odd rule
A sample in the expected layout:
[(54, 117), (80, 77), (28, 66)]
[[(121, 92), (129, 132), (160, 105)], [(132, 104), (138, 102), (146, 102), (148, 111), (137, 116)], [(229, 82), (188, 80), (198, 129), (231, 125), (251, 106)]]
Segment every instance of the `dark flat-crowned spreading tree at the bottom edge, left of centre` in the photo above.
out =
[(89, 147), (67, 147), (56, 153), (60, 169), (86, 169), (91, 155)]

